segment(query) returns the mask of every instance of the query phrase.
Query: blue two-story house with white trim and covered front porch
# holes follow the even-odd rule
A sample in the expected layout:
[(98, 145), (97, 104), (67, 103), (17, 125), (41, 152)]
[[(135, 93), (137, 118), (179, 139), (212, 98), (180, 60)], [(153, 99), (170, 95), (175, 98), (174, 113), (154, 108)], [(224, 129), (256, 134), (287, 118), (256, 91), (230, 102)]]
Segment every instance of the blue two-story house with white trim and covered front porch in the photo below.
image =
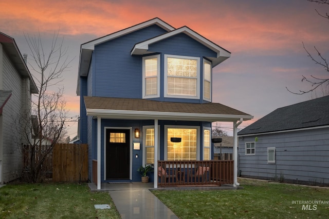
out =
[[(212, 69), (229, 57), (190, 28), (159, 18), (82, 44), (79, 135), (89, 145), (89, 179), (97, 188), (140, 182), (138, 167), (159, 170), (157, 161), (210, 161), (212, 122), (233, 123), (236, 149), (237, 126), (253, 116), (212, 103)], [(150, 177), (155, 188), (160, 173)]]

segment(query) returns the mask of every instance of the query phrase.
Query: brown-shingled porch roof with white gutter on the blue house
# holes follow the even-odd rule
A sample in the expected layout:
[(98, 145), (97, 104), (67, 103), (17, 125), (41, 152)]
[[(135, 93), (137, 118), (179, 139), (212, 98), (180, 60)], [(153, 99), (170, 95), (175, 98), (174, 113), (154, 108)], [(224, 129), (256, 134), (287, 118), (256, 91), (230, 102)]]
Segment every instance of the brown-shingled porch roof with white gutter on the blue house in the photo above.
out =
[(87, 115), (136, 120), (234, 122), (252, 115), (219, 103), (175, 103), (150, 99), (84, 96)]

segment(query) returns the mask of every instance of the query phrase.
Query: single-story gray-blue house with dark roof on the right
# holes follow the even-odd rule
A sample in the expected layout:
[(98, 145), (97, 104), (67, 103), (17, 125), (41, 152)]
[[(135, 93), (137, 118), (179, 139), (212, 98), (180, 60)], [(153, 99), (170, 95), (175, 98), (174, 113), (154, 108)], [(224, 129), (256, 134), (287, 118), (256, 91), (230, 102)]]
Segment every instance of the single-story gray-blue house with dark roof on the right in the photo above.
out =
[(238, 137), (241, 176), (329, 185), (329, 96), (276, 109)]

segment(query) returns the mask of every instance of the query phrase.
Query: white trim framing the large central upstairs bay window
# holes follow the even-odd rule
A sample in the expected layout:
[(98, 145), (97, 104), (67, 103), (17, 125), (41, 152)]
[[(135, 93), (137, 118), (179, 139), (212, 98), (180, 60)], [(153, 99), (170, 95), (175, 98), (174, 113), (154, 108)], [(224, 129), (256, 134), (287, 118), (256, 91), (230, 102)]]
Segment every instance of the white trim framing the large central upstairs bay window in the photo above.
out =
[[(196, 96), (185, 96), (185, 95), (169, 95), (168, 94), (168, 63), (167, 58), (185, 58), (185, 59), (195, 59), (197, 61), (196, 64)], [(168, 55), (165, 54), (165, 64), (164, 64), (164, 70), (165, 70), (165, 90), (164, 90), (164, 96), (170, 97), (170, 98), (188, 98), (188, 99), (198, 99), (200, 97), (200, 58), (199, 57), (192, 57), (192, 56), (180, 56), (180, 55)]]

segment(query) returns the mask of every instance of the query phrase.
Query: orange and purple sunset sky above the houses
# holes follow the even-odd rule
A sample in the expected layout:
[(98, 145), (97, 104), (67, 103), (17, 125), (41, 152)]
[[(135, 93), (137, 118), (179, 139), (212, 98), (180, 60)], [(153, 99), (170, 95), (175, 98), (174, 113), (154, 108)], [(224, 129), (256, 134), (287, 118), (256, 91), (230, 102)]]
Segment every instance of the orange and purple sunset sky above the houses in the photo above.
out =
[[(315, 98), (314, 93), (296, 95), (285, 88), (309, 89), (301, 82), (302, 75), (328, 76), (307, 57), (302, 45), (315, 57), (314, 46), (329, 57), (329, 21), (315, 9), (329, 12), (327, 5), (306, 0), (4, 0), (0, 2), (0, 32), (13, 37), (22, 54), (30, 54), (24, 33), (40, 32), (49, 42), (54, 31), (60, 30), (69, 58), (74, 58), (64, 74), (65, 98), (71, 116), (78, 116), (81, 44), (154, 17), (175, 28), (188, 26), (231, 52), (229, 59), (213, 69), (213, 102), (253, 115), (252, 121), (239, 126), (244, 128), (279, 107)], [(32, 62), (29, 57), (28, 62)], [(77, 135), (77, 123), (68, 125), (68, 134)], [(217, 125), (231, 133), (231, 124)]]

